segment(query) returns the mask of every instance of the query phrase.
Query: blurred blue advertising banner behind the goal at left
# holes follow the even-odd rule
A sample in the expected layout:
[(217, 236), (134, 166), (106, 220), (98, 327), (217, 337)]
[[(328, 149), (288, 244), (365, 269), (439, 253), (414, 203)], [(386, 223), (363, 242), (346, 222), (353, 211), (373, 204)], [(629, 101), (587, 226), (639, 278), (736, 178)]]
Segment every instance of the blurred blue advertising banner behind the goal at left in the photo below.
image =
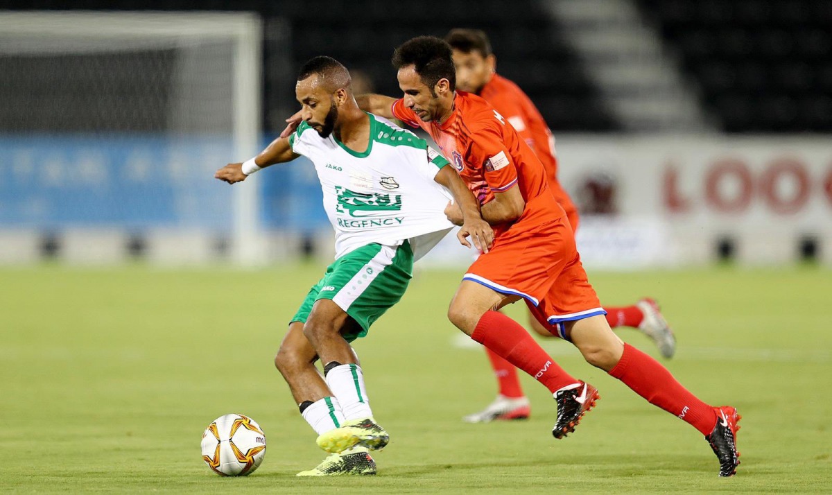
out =
[[(232, 188), (214, 171), (233, 153), (215, 137), (0, 136), (0, 228), (228, 230)], [(305, 158), (256, 179), (265, 229), (328, 225)]]

